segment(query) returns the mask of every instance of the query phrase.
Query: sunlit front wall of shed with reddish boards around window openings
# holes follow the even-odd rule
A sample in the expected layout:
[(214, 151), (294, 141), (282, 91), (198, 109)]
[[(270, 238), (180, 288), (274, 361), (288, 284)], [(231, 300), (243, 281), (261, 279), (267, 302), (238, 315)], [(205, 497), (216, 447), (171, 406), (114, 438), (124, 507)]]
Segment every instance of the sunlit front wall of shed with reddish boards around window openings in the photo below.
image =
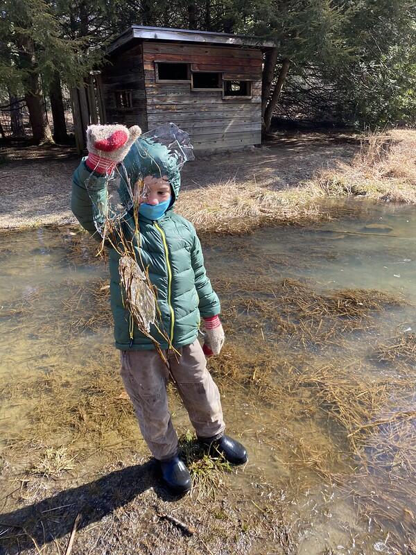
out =
[[(193, 71), (218, 71), (252, 81), (252, 97), (223, 99), (222, 90), (192, 91), (190, 83), (157, 83), (155, 62), (186, 62)], [(196, 150), (215, 151), (261, 142), (259, 49), (205, 44), (143, 43), (148, 128), (173, 121)]]

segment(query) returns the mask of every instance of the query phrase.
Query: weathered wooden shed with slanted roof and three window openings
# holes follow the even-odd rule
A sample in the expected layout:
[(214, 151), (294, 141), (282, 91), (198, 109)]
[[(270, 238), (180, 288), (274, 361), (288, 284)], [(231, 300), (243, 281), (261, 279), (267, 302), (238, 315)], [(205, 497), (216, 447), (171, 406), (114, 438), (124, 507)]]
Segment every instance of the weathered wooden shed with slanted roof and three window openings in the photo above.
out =
[(263, 51), (253, 37), (132, 26), (97, 79), (101, 121), (146, 131), (172, 121), (196, 150), (261, 142)]

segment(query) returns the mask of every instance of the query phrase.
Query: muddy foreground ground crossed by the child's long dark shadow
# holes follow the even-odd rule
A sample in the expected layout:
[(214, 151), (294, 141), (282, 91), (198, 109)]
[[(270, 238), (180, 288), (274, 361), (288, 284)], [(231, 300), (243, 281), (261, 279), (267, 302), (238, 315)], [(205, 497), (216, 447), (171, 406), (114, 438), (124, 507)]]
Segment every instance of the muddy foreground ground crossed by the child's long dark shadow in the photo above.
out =
[(93, 479), (32, 477), (21, 488), (24, 506), (1, 515), (8, 527), (0, 553), (67, 553), (77, 522), (73, 555), (292, 555), (279, 490), (246, 483), (234, 491), (235, 479), (233, 472), (215, 499), (198, 501), (170, 495), (147, 458), (120, 461)]

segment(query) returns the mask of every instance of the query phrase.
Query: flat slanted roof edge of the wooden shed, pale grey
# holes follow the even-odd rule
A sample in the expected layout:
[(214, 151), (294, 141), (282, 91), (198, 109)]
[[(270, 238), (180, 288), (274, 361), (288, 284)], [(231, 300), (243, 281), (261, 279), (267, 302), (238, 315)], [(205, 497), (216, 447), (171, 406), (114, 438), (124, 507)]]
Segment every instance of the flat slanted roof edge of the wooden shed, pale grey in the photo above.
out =
[(107, 48), (107, 52), (114, 52), (130, 41), (166, 40), (171, 42), (199, 42), (205, 44), (222, 44), (223, 46), (252, 46), (254, 48), (271, 48), (272, 41), (260, 40), (257, 37), (245, 35), (231, 35), (228, 33), (211, 33), (211, 31), (191, 31), (190, 29), (171, 29), (166, 27), (145, 27), (132, 25)]

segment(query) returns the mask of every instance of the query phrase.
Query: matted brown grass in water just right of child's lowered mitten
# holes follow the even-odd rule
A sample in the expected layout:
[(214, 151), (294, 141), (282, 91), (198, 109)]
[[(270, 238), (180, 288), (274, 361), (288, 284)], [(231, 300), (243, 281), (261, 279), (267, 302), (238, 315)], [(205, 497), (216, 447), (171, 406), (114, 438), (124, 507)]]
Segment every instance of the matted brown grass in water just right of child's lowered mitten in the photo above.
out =
[(294, 279), (237, 278), (221, 286), (235, 288), (231, 307), (241, 331), (260, 332), (263, 341), (284, 340), (286, 348), (341, 347), (348, 336), (374, 330), (374, 312), (406, 305), (404, 298), (383, 291), (317, 291)]

